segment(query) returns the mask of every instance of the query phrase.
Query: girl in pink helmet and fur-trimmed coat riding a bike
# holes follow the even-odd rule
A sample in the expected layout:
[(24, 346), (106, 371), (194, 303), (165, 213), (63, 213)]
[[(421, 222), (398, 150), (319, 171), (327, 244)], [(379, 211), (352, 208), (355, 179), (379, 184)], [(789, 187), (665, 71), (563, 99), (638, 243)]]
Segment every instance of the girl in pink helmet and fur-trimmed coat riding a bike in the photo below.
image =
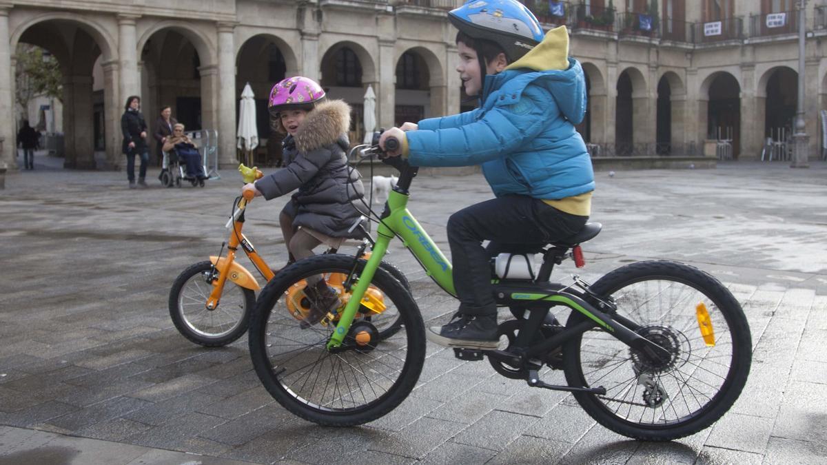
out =
[[(298, 189), (279, 216), (288, 265), (313, 256), (319, 244), (339, 248), (361, 216), (354, 203), (364, 197), (361, 175), (347, 166), (351, 109), (341, 100), (327, 100), (313, 79), (283, 79), (270, 91), (270, 127), (284, 137), (284, 168), (244, 186), (256, 196), (275, 199)], [(311, 302), (302, 328), (317, 324), (338, 303), (337, 293), (322, 276), (308, 278)]]

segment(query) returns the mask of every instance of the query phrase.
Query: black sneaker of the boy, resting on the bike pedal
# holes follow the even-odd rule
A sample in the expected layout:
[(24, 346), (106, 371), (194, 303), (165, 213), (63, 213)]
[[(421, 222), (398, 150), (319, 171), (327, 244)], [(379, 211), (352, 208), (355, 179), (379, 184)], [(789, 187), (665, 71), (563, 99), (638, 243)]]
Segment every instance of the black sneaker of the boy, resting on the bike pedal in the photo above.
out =
[(457, 313), (451, 323), (428, 328), (425, 336), (428, 341), (448, 348), (496, 350), (500, 345), (495, 314), (479, 316)]

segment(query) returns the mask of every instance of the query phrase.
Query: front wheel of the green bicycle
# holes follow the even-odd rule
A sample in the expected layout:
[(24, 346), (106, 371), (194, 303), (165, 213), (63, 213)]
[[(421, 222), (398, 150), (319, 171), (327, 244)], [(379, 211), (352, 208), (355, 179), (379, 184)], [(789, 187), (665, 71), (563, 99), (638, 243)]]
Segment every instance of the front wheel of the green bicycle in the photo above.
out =
[[(418, 307), (399, 280), (378, 268), (370, 283), (370, 309), (360, 309), (342, 348), (327, 349), (336, 320), (301, 328), (302, 309), (312, 304), (307, 279), (328, 285), (347, 276), (352, 256), (318, 255), (281, 271), (256, 302), (250, 327), (250, 354), (261, 382), (286, 409), (314, 423), (364, 424), (399, 405), (414, 389), (425, 359), (425, 333)], [(366, 261), (359, 260), (354, 281)], [(341, 309), (347, 290), (337, 291)], [(380, 336), (375, 312), (398, 314), (394, 333)], [(373, 318), (368, 318), (371, 314)]]

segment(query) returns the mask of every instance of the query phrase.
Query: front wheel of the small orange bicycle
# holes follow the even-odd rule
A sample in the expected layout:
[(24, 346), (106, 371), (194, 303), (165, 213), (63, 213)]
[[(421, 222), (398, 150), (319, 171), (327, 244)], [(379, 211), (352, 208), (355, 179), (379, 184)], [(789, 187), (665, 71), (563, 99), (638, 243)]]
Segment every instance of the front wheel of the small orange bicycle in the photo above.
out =
[[(208, 310), (204, 307), (209, 297), (209, 285), (206, 282), (206, 273), (213, 270), (213, 264), (210, 261), (199, 261), (198, 263), (189, 266), (186, 270), (175, 278), (175, 281), (170, 289), (170, 318), (172, 319), (175, 328), (190, 341), (200, 344), (208, 348), (216, 348), (226, 346), (229, 343), (236, 341), (238, 338), (246, 333), (250, 326), (250, 317), (252, 309), (256, 305), (256, 293), (252, 290), (245, 289), (236, 285), (231, 280), (227, 280), (224, 284), (224, 292), (219, 301), (218, 308)], [(203, 285), (198, 285), (199, 280), (204, 280)], [(192, 295), (188, 295), (187, 293)], [(240, 293), (239, 295), (236, 295)], [(185, 300), (189, 302), (185, 302)], [(198, 305), (200, 304), (200, 308)], [(191, 306), (198, 312), (203, 313), (201, 319), (207, 318), (209, 315), (212, 319), (212, 324), (199, 325), (194, 318), (188, 317), (185, 307)], [(239, 311), (228, 310), (239, 306)], [(232, 312), (232, 313), (231, 313)], [(226, 329), (213, 332), (210, 328), (224, 328), (225, 325), (215, 324), (215, 315), (227, 314), (228, 321), (232, 324)]]

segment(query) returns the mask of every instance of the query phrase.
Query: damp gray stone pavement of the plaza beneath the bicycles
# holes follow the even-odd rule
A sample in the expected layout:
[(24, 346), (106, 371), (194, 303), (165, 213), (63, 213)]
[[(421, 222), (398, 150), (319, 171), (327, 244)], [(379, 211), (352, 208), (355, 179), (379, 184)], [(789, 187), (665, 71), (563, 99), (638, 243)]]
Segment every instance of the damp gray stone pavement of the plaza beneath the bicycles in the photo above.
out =
[[(123, 173), (54, 164), (39, 158), (0, 191), (0, 463), (194, 458), (169, 451), (203, 454), (203, 463), (827, 461), (824, 163), (597, 174), (592, 218), (604, 231), (584, 247), (583, 277), (643, 259), (686, 261), (734, 291), (753, 332), (753, 370), (734, 408), (672, 443), (625, 439), (570, 395), (430, 344), (420, 386), (390, 415), (360, 428), (309, 424), (261, 386), (246, 338), (208, 350), (170, 322), (175, 276), (226, 238), (237, 175), (163, 189), (155, 170), (151, 189), (129, 190)], [(409, 208), (445, 252), (450, 213), (490, 198), (480, 175), (420, 176), (412, 191)], [(259, 201), (247, 214), (246, 234), (274, 267), (286, 256), (282, 205)], [(398, 244), (389, 260), (408, 274), (426, 320), (456, 308)], [(557, 279), (575, 271), (564, 264)]]

